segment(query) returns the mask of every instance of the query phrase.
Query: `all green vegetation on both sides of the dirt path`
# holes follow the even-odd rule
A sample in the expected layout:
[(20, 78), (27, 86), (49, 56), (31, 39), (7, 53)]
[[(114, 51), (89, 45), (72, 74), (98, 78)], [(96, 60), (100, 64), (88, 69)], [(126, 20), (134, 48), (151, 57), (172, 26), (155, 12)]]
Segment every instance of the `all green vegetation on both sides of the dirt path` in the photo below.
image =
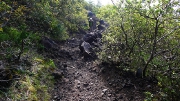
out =
[[(101, 61), (158, 79), (158, 93), (147, 101), (177, 101), (180, 96), (180, 19), (178, 0), (121, 0), (100, 6), (84, 0), (0, 0), (0, 62), (13, 81), (0, 91), (14, 101), (49, 101), (56, 66), (36, 51), (43, 36), (63, 41), (69, 32), (87, 30), (87, 10), (110, 24), (103, 35)], [(179, 6), (178, 6), (179, 7)], [(18, 80), (17, 80), (18, 79)], [(1, 82), (1, 80), (0, 80)], [(5, 99), (6, 100), (6, 99)]]

